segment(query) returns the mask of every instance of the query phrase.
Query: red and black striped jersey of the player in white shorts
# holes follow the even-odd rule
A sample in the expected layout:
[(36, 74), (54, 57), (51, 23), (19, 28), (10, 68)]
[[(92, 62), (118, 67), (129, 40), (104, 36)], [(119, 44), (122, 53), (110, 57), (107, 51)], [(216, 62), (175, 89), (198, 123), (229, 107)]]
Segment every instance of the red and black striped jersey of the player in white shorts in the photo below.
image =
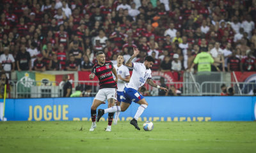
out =
[(116, 88), (116, 82), (112, 74), (113, 63), (106, 61), (104, 65), (95, 64), (92, 68), (92, 73), (94, 73), (100, 83), (100, 89), (102, 88)]

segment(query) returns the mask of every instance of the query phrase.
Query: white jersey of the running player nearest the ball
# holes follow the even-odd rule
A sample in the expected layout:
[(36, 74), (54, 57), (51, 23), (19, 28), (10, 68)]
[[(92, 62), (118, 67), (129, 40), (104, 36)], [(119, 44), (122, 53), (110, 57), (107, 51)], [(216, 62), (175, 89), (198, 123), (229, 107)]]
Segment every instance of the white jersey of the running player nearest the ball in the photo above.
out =
[(151, 69), (146, 69), (146, 66), (140, 62), (132, 62), (132, 68), (132, 77), (130, 82), (125, 86), (138, 91), (148, 78), (152, 78)]

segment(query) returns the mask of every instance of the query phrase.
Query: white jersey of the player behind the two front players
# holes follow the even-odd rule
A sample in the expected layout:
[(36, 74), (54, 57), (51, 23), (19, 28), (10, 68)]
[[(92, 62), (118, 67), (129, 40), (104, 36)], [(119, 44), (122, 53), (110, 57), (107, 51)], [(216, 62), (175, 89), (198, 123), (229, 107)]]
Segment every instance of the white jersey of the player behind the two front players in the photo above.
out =
[[(120, 67), (118, 67), (117, 64), (115, 64), (114, 67), (116, 69), (117, 75), (121, 75), (122, 78), (125, 78), (130, 75), (129, 69), (123, 64)], [(116, 78), (115, 75), (113, 75), (113, 77), (114, 79)], [(125, 83), (126, 82), (118, 78), (117, 91), (121, 91), (121, 92), (124, 91)]]

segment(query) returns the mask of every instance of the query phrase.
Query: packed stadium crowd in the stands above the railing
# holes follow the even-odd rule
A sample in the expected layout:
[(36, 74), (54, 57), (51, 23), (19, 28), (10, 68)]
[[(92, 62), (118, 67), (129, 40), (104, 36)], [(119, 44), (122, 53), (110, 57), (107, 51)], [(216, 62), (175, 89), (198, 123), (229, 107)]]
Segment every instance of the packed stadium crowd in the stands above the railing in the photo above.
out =
[[(255, 0), (3, 0), (2, 71), (90, 71), (95, 52), (116, 64), (133, 48), (153, 71), (193, 71), (200, 52), (209, 71), (256, 71)], [(200, 71), (200, 69), (198, 69)]]

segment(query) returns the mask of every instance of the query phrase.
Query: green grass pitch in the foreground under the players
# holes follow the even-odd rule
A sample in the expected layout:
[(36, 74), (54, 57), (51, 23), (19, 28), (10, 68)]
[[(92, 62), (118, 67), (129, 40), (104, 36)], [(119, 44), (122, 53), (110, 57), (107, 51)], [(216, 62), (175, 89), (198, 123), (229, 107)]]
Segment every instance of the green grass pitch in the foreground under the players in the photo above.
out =
[(256, 122), (154, 122), (138, 131), (127, 121), (104, 131), (100, 121), (0, 122), (0, 152), (256, 152)]

